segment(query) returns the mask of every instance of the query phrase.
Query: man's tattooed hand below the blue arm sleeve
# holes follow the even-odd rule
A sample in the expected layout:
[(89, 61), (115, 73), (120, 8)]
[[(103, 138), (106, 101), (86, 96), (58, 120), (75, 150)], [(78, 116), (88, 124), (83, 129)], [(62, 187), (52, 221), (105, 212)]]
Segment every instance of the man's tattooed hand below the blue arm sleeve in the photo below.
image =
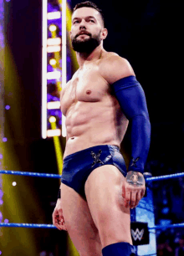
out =
[(125, 200), (125, 207), (133, 209), (136, 207), (146, 191), (145, 178), (141, 172), (130, 171), (125, 177), (125, 186), (122, 196)]

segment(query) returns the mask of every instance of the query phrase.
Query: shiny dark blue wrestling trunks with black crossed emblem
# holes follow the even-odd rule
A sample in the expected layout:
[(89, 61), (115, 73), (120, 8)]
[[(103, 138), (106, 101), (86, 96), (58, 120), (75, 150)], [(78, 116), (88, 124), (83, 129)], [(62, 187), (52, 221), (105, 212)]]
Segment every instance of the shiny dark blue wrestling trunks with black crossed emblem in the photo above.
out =
[(64, 157), (61, 182), (72, 187), (86, 201), (84, 184), (95, 168), (114, 165), (126, 176), (126, 166), (118, 146), (92, 146)]

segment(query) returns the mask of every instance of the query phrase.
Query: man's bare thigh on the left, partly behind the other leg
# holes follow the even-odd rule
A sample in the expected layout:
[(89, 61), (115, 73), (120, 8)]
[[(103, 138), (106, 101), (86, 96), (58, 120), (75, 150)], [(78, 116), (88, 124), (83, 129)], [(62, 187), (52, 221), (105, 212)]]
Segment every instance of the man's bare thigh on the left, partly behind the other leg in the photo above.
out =
[(61, 203), (69, 237), (80, 256), (101, 256), (102, 246), (87, 202), (73, 188), (61, 183)]

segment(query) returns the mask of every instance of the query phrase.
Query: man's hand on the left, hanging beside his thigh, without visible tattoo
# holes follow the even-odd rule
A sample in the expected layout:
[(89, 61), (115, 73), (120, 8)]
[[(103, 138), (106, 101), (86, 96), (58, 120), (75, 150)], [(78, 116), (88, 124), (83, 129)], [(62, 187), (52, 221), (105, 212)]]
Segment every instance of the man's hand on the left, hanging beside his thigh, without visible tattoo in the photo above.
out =
[(58, 201), (56, 203), (56, 206), (54, 208), (53, 224), (59, 230), (67, 231), (65, 223), (64, 223), (64, 216), (63, 216), (63, 210), (62, 210), (61, 199), (60, 198), (58, 199)]

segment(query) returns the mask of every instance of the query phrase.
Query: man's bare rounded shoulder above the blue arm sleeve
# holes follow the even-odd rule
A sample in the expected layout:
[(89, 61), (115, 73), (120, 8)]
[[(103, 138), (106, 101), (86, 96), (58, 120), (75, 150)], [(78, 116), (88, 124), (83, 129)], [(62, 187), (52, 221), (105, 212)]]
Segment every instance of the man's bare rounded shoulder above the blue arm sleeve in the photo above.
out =
[(109, 84), (126, 76), (135, 75), (129, 61), (113, 52), (105, 53), (100, 62), (100, 74)]

